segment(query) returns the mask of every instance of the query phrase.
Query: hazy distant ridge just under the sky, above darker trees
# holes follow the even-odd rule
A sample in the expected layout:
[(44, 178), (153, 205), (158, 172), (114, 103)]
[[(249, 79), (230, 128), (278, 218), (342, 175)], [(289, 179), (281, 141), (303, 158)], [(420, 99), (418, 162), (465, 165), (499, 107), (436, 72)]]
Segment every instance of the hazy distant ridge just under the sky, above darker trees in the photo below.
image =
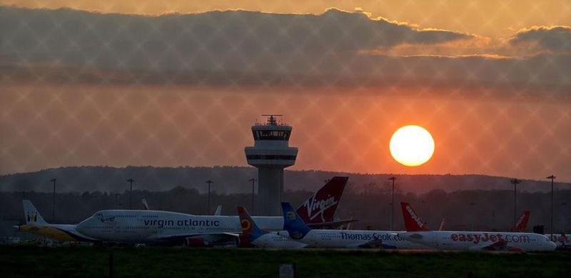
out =
[[(127, 179), (134, 179), (133, 189), (164, 191), (174, 187), (198, 189), (206, 192), (206, 181), (212, 180), (213, 191), (219, 194), (251, 192), (248, 179), (257, 178), (253, 167), (61, 167), (39, 172), (7, 174), (0, 176), (0, 191), (51, 192), (51, 179), (56, 178), (58, 192), (123, 192), (128, 189)], [(508, 177), (490, 177), (477, 174), (353, 174), (325, 171), (285, 171), (285, 190), (313, 191), (325, 179), (334, 176), (348, 176), (348, 190), (355, 193), (386, 192), (390, 189), (388, 177), (396, 177), (395, 186), (399, 192), (423, 194), (433, 189), (445, 192), (475, 189), (510, 190)], [(563, 184), (557, 183), (557, 187)], [(566, 183), (565, 185), (570, 185)], [(257, 184), (256, 184), (257, 186)], [(551, 189), (547, 180), (522, 180), (519, 191), (547, 192)], [(564, 187), (569, 189), (570, 187)]]

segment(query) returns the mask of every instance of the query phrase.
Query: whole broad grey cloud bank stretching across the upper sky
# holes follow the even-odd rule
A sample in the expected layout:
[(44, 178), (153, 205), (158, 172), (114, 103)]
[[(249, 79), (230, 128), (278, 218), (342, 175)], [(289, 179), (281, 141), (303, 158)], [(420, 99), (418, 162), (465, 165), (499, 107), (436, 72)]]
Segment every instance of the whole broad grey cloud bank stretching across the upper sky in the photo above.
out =
[(0, 8), (4, 81), (79, 83), (492, 86), (571, 89), (568, 28), (519, 32), (510, 44), (550, 50), (528, 59), (391, 57), (399, 44), (474, 39), (366, 14), (209, 11), (139, 16)]

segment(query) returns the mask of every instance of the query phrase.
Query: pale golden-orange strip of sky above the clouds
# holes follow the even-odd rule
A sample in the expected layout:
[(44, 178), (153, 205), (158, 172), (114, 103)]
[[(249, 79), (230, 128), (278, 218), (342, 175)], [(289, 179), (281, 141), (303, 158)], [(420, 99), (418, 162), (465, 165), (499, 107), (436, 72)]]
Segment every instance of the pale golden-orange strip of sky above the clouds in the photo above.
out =
[(91, 0), (1, 0), (0, 4), (129, 14), (161, 14), (168, 11), (196, 13), (213, 9), (247, 9), (274, 13), (321, 14), (329, 7), (355, 8), (390, 21), (417, 24), (420, 28), (461, 31), (481, 36), (506, 37), (530, 26), (571, 25), (571, 2), (567, 0), (512, 1), (403, 1), (403, 0), (309, 0), (309, 1), (91, 1)]

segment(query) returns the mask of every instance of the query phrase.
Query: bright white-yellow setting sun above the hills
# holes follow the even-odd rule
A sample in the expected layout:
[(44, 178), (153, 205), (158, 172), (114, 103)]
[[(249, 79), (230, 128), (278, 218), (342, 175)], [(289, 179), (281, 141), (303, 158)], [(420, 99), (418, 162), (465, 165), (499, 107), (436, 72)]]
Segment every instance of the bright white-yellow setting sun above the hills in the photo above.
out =
[(400, 164), (409, 167), (428, 162), (434, 153), (434, 139), (420, 126), (403, 126), (393, 134), (389, 143), (390, 154)]

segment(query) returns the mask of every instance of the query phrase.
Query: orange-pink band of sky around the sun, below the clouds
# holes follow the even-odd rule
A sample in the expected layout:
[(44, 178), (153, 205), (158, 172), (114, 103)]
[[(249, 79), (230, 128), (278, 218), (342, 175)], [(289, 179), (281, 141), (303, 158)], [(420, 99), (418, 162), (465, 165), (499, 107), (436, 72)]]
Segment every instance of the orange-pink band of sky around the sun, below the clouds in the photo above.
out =
[[(0, 104), (9, 115), (1, 126), (6, 172), (246, 166), (251, 124), (262, 120), (259, 114), (279, 112), (293, 126), (290, 145), (300, 148), (290, 169), (527, 179), (555, 173), (571, 180), (570, 104), (549, 99), (168, 86), (14, 86), (7, 92)], [(435, 139), (433, 158), (420, 167), (390, 157), (390, 136), (407, 124), (424, 126)]]

